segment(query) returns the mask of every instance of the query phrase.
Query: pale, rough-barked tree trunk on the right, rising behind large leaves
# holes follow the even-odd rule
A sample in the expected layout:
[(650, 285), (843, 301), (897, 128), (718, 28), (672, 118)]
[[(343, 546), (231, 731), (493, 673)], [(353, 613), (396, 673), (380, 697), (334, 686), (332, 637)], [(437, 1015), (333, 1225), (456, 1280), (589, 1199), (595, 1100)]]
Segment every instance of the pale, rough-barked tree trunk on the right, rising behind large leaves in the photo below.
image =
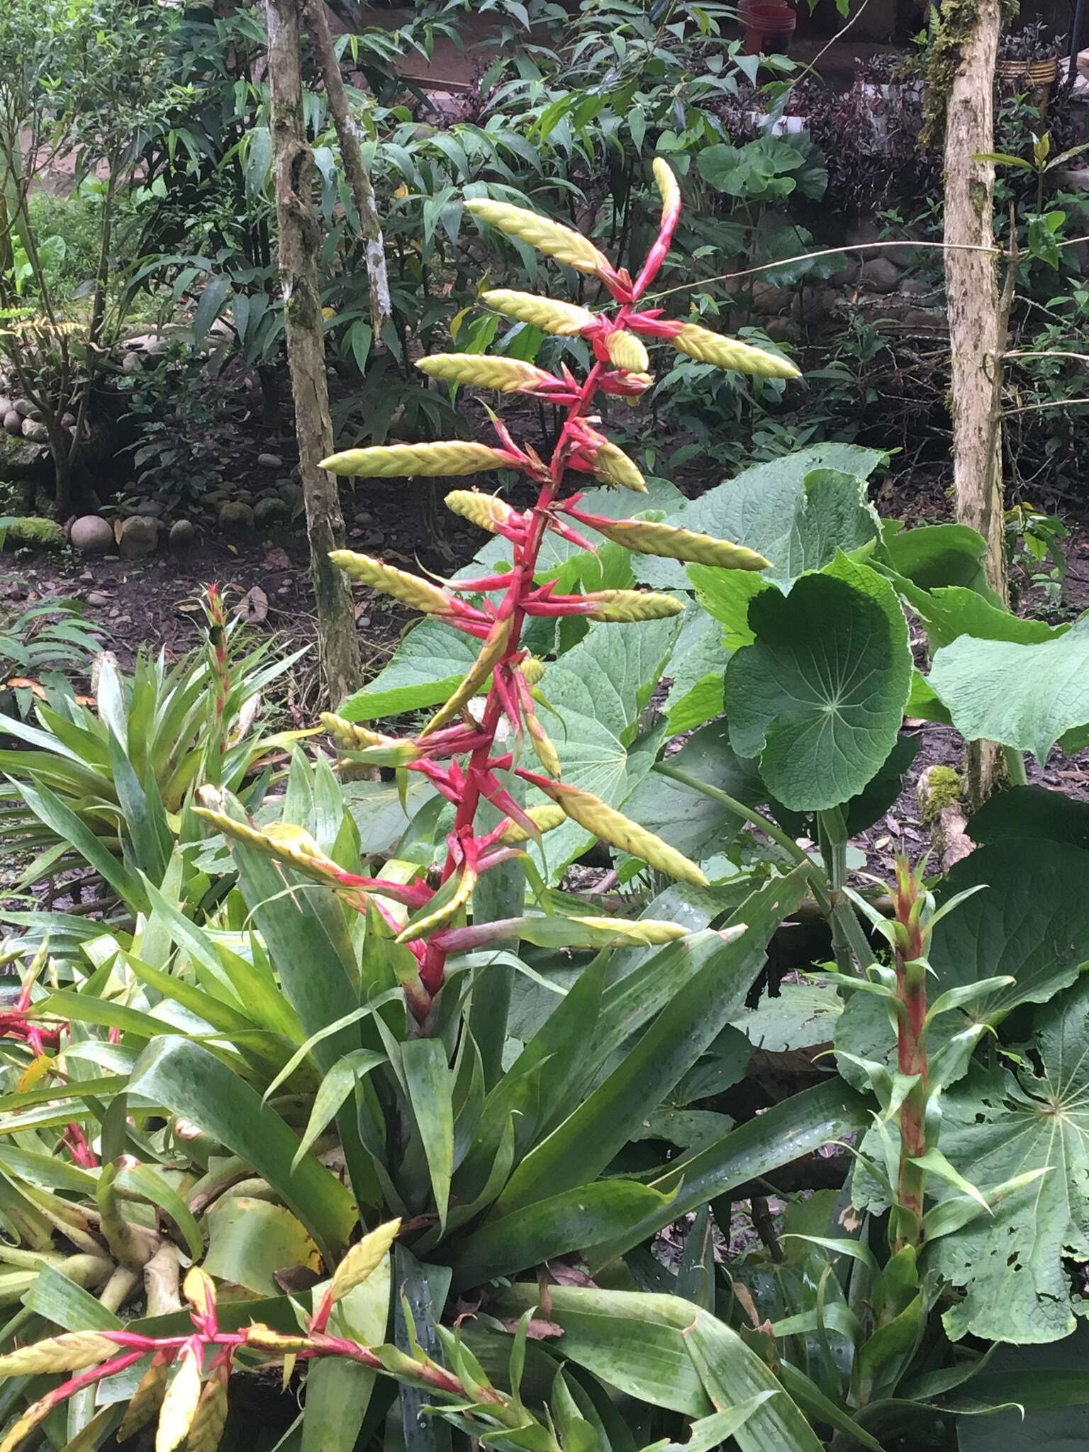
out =
[[(995, 168), (995, 57), (1000, 0), (955, 7), (958, 46), (945, 105), (945, 296), (953, 353), (953, 484), (957, 518), (987, 542), (987, 584), (1006, 598), (1002, 492), (1002, 360), (1008, 305), (999, 296)], [(982, 251), (980, 248), (990, 248)], [(967, 794), (974, 809), (993, 790), (999, 751), (973, 742)]]

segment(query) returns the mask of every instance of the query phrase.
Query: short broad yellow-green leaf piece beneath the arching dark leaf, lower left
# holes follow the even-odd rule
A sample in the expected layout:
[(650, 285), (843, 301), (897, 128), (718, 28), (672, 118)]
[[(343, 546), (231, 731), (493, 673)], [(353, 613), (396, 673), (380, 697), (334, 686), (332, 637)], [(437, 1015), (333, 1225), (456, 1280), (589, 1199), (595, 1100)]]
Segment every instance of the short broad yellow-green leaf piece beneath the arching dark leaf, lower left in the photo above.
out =
[(254, 1295), (279, 1295), (277, 1270), (318, 1269), (318, 1247), (283, 1205), (250, 1195), (224, 1196), (208, 1211), (203, 1268)]

